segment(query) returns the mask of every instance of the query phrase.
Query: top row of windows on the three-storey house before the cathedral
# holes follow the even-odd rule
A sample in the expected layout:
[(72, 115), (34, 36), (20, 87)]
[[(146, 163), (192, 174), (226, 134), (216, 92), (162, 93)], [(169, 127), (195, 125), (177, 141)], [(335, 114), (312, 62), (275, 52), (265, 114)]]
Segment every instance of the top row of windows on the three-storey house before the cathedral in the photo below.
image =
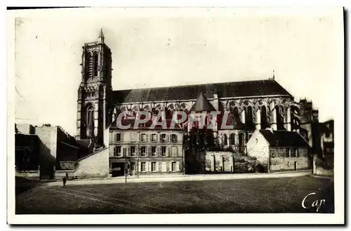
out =
[[(132, 133), (131, 134), (131, 142), (136, 142), (137, 140), (137, 134), (136, 133)], [(124, 133), (117, 133), (110, 136), (110, 142), (122, 142), (124, 140)], [(160, 143), (166, 143), (166, 142), (170, 142), (171, 143), (177, 143), (177, 135), (176, 134), (160, 134), (159, 135), (159, 142)], [(139, 134), (139, 141), (140, 142), (153, 142), (153, 143), (157, 143), (157, 134), (146, 134), (146, 133), (141, 133)]]

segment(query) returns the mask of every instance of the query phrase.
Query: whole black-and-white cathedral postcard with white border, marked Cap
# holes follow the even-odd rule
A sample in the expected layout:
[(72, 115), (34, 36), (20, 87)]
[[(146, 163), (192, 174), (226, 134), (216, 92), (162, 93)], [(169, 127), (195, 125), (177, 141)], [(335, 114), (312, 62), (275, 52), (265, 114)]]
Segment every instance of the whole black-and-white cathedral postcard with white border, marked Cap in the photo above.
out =
[(8, 12), (8, 223), (343, 224), (344, 13)]

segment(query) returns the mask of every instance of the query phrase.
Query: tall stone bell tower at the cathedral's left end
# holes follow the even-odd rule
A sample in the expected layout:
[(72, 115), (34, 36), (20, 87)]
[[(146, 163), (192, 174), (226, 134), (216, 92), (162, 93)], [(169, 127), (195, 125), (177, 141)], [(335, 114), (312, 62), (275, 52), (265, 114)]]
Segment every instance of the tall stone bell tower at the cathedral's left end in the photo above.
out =
[(112, 96), (112, 53), (100, 31), (98, 41), (86, 43), (81, 55), (81, 84), (78, 89), (77, 137), (91, 139), (94, 147), (104, 143)]

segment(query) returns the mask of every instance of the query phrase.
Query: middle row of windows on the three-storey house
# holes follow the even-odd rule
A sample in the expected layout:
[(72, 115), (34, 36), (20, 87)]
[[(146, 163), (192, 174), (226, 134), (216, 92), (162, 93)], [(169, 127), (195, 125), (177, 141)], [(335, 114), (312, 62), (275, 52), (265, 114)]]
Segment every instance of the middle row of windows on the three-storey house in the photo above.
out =
[[(138, 150), (138, 152), (137, 152)], [(113, 150), (114, 156), (115, 157), (127, 157), (130, 155), (131, 157), (136, 157), (137, 154), (139, 157), (177, 157), (178, 156), (178, 147), (168, 147), (168, 152), (167, 152), (167, 147), (119, 147), (115, 146)]]

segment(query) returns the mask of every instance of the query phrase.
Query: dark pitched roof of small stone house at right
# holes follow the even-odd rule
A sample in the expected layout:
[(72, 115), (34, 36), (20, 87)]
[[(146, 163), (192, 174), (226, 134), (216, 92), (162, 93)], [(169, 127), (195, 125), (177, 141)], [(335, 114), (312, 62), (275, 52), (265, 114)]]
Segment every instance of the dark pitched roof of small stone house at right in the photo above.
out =
[(309, 147), (306, 140), (296, 131), (260, 130), (260, 133), (270, 143), (270, 146)]

